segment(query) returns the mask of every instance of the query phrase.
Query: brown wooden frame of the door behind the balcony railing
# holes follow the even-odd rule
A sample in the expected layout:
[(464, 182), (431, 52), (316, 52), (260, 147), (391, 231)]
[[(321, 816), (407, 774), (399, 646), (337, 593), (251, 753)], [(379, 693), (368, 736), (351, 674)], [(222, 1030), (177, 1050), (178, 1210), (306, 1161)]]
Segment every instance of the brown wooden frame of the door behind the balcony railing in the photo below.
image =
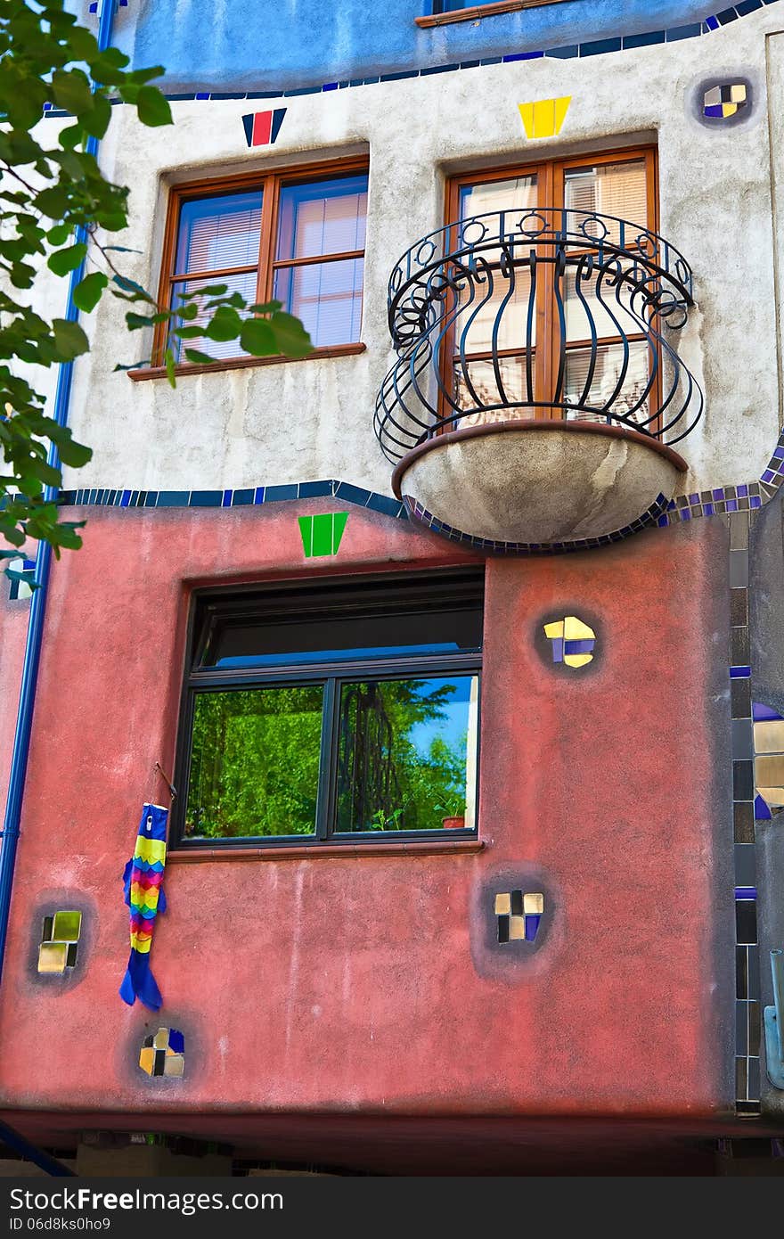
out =
[[(638, 160), (645, 161), (645, 199), (648, 209), (648, 224), (647, 228), (650, 232), (659, 232), (659, 161), (658, 161), (658, 149), (655, 146), (629, 146), (621, 150), (611, 151), (586, 151), (582, 155), (573, 155), (566, 159), (555, 160), (541, 160), (531, 161), (529, 164), (510, 164), (502, 167), (494, 169), (479, 169), (467, 172), (460, 172), (447, 180), (446, 193), (445, 193), (445, 221), (447, 225), (457, 224), (460, 222), (460, 195), (464, 186), (471, 185), (488, 185), (493, 181), (509, 181), (515, 176), (536, 176), (538, 185), (538, 206), (546, 208), (552, 207), (555, 209), (564, 209), (564, 193), (565, 193), (565, 173), (570, 169), (576, 167), (591, 167), (599, 166), (603, 164), (632, 164)], [(539, 249), (539, 247), (531, 247)], [(541, 247), (542, 252), (547, 247)], [(586, 245), (586, 252), (590, 252), (590, 247)], [(557, 364), (557, 347), (556, 347), (556, 332), (555, 332), (555, 296), (554, 296), (554, 268), (551, 263), (542, 264), (542, 276), (540, 278), (536, 296), (536, 346), (534, 348), (534, 399), (542, 401), (546, 399), (546, 393), (552, 390), (552, 375)], [(613, 343), (619, 337), (602, 337), (597, 341), (597, 346), (603, 343)], [(647, 337), (640, 333), (634, 333), (627, 336), (630, 342), (644, 341)], [(455, 330), (447, 333), (445, 339), (445, 347), (441, 353), (441, 380), (442, 392), (452, 392), (453, 384), (453, 362), (455, 362)], [(591, 344), (591, 341), (570, 341), (567, 346), (567, 352), (585, 348)], [(486, 351), (479, 351), (476, 354), (466, 354), (467, 361), (482, 361), (484, 358), (490, 358), (493, 354)], [(500, 349), (495, 353), (497, 357), (525, 357), (524, 351), (519, 349)], [(655, 403), (659, 406), (659, 398), (661, 394), (661, 366), (658, 367), (656, 378), (649, 393), (649, 401)], [(471, 410), (467, 410), (469, 413)], [(448, 418), (455, 410), (451, 409), (445, 396), (441, 396), (441, 409), (440, 414), (443, 418)], [(542, 406), (534, 409), (533, 416), (536, 421), (561, 421), (564, 420), (562, 414), (552, 408)], [(447, 431), (456, 429), (455, 425), (447, 425), (445, 427)], [(651, 422), (648, 427), (653, 434), (656, 432), (658, 422)]]

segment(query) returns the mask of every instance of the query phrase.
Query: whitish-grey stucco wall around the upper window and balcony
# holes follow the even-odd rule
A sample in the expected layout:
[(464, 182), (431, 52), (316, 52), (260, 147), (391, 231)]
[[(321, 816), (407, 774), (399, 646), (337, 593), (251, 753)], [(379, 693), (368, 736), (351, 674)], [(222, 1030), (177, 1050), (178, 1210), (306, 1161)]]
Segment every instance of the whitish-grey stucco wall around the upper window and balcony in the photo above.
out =
[[(758, 477), (780, 426), (770, 146), (773, 136), (780, 196), (784, 35), (768, 37), (784, 26), (778, 9), (680, 43), (286, 99), (276, 145), (260, 150), (245, 147), (240, 116), (274, 102), (176, 103), (176, 125), (166, 130), (144, 129), (118, 108), (102, 164), (131, 186), (133, 224), (120, 240), (141, 250), (121, 264), (154, 289), (171, 176), (369, 149), (367, 351), (182, 377), (172, 392), (162, 379), (111, 373), (116, 361), (146, 356), (149, 342), (128, 336), (121, 304), (108, 300), (88, 320), (93, 352), (77, 364), (71, 415), (94, 457), (66, 484), (187, 489), (337, 477), (389, 492), (390, 467), (373, 432), (377, 390), (394, 357), (386, 280), (399, 255), (443, 222), (445, 175), (640, 140), (659, 147), (660, 232), (695, 271), (697, 307), (682, 354), (702, 378), (706, 413), (679, 449), (692, 470), (686, 486)], [(701, 124), (697, 84), (738, 77), (753, 87), (748, 119)], [(526, 141), (518, 103), (564, 94), (572, 103), (560, 136)]]

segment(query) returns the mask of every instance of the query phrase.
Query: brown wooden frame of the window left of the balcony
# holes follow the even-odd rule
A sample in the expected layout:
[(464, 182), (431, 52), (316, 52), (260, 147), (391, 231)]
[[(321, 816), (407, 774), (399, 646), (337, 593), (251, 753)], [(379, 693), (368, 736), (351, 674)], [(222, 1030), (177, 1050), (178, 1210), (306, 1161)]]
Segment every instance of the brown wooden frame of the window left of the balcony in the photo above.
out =
[[(284, 185), (307, 183), (308, 181), (326, 181), (339, 176), (355, 176), (369, 172), (370, 161), (367, 155), (349, 159), (326, 160), (318, 164), (289, 164), (270, 171), (240, 172), (230, 176), (201, 178), (188, 181), (183, 185), (171, 186), (166, 211), (166, 229), (163, 234), (163, 253), (161, 256), (161, 274), (159, 280), (157, 304), (161, 310), (171, 306), (172, 291), (176, 284), (185, 282), (186, 279), (219, 280), (228, 275), (248, 274), (256, 271), (255, 300), (263, 304), (272, 300), (275, 273), (284, 268), (310, 266), (313, 263), (337, 263), (351, 259), (364, 259), (365, 250), (347, 250), (336, 254), (317, 254), (308, 258), (276, 259), (277, 224), (280, 191)], [(261, 193), (261, 228), (259, 237), (259, 260), (254, 264), (242, 266), (216, 268), (208, 271), (175, 271), (175, 259), (177, 256), (177, 242), (180, 238), (180, 218), (183, 202), (198, 198), (218, 197), (228, 193), (248, 193), (258, 190)], [(363, 307), (364, 307), (364, 271), (363, 271)], [(146, 369), (131, 372), (131, 378), (152, 378), (159, 373), (165, 373), (163, 352), (166, 349), (167, 323), (157, 323), (152, 339), (152, 366)], [(329, 344), (323, 348), (315, 348), (311, 357), (336, 357), (341, 353), (362, 352), (364, 346), (359, 341), (346, 342), (344, 344)], [(282, 354), (275, 357), (227, 357), (211, 364), (203, 366), (191, 362), (178, 362), (177, 373), (192, 373), (204, 370), (233, 369), (238, 366), (250, 366), (254, 363), (284, 362), (289, 358)]]

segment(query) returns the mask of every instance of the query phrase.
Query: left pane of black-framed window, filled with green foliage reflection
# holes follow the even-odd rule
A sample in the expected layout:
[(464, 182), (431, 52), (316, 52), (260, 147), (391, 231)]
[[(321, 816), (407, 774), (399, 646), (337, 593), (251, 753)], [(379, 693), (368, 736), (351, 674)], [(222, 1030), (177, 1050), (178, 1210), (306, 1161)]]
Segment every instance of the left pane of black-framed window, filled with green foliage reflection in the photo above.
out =
[(323, 688), (199, 693), (186, 839), (312, 835)]

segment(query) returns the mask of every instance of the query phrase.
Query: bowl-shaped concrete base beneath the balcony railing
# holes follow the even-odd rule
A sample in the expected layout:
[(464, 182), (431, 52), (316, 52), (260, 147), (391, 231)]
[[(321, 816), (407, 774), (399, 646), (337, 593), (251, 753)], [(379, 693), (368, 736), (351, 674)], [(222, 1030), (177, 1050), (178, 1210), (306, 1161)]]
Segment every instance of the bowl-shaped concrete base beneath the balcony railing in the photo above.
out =
[(415, 515), (419, 504), (429, 523), (500, 550), (564, 549), (630, 532), (686, 468), (671, 447), (622, 426), (509, 420), (429, 439), (398, 463), (393, 489)]

